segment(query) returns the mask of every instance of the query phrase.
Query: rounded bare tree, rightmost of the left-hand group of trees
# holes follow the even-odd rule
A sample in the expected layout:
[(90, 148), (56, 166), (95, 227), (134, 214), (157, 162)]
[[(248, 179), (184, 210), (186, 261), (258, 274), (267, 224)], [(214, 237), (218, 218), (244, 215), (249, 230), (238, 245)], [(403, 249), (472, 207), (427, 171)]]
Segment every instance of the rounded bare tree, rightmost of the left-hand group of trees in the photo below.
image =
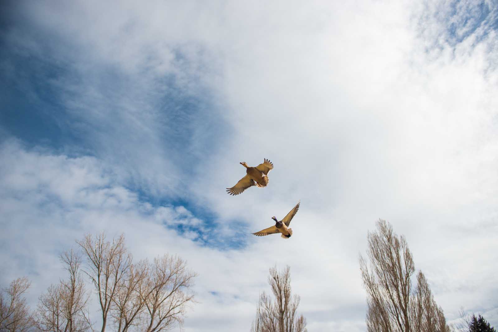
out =
[(146, 332), (170, 330), (176, 324), (183, 324), (185, 310), (194, 302), (191, 287), (195, 276), (177, 256), (165, 254), (154, 258), (147, 283), (141, 290), (148, 322)]

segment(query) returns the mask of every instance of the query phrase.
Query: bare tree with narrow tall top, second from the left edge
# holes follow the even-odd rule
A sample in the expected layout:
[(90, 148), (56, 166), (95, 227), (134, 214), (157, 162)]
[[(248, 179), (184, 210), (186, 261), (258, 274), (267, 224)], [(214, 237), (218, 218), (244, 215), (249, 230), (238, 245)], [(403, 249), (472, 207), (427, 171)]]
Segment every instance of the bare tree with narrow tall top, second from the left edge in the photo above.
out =
[(81, 277), (81, 256), (72, 249), (60, 256), (68, 272), (66, 280), (51, 285), (38, 302), (38, 323), (42, 331), (84, 332), (91, 328), (86, 315), (89, 295)]

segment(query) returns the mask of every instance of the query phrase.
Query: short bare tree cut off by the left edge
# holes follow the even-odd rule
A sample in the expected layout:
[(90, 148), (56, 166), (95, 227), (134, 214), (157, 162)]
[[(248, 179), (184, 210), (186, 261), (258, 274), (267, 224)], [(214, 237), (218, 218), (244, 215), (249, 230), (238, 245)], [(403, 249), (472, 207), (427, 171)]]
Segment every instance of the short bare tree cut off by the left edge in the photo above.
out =
[(17, 278), (0, 292), (0, 331), (27, 332), (35, 327), (33, 314), (22, 297), (30, 285), (27, 278)]

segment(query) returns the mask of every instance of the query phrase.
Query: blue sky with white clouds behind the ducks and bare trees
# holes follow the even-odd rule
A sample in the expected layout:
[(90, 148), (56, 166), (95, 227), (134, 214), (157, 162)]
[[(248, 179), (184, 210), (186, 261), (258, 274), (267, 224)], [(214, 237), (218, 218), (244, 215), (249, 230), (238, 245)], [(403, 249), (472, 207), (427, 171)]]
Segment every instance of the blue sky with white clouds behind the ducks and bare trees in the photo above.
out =
[[(105, 231), (198, 273), (186, 332), (249, 331), (275, 265), (308, 331), (365, 331), (380, 218), (448, 321), (498, 326), (496, 1), (7, 0), (0, 26), (0, 285), (32, 308)], [(250, 234), (299, 200), (291, 239)]]

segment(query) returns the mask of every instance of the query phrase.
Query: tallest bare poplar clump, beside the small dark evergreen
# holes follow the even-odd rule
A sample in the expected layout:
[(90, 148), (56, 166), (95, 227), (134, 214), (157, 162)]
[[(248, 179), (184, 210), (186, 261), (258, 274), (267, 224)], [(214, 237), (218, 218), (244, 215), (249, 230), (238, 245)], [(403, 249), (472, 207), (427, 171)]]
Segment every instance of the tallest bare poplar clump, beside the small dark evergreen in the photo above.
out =
[(449, 332), (441, 307), (434, 301), (422, 272), (417, 274), (415, 289), (411, 276), (415, 272), (412, 254), (403, 236), (392, 226), (377, 222), (377, 232), (369, 232), (367, 260), (360, 256), (360, 269), (367, 290), (369, 332)]

